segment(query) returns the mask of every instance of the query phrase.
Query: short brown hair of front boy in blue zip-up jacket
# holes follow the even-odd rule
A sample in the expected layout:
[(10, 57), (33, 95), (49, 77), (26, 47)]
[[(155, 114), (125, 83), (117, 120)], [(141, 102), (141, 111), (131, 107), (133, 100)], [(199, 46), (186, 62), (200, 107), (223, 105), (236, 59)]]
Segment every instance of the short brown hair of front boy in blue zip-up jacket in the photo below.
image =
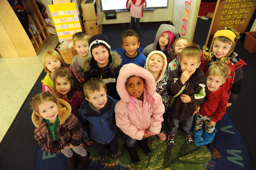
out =
[(88, 98), (89, 93), (93, 93), (94, 91), (100, 91), (101, 87), (107, 90), (107, 85), (101, 79), (89, 79), (85, 82), (83, 86), (85, 97)]

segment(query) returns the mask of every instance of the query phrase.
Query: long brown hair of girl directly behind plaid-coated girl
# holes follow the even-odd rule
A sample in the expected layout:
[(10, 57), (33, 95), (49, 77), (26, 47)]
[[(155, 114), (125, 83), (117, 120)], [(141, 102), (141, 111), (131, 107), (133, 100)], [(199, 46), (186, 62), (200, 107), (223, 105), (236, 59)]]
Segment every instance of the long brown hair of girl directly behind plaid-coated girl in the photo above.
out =
[(68, 92), (68, 99), (72, 98), (74, 92), (77, 93), (77, 95), (84, 99), (84, 93), (82, 92), (82, 85), (80, 84), (78, 78), (75, 76), (75, 74), (68, 68), (58, 68), (53, 74), (53, 93), (58, 98), (62, 98), (61, 93), (59, 93), (56, 90), (56, 79), (57, 77), (65, 77), (70, 82), (70, 91)]

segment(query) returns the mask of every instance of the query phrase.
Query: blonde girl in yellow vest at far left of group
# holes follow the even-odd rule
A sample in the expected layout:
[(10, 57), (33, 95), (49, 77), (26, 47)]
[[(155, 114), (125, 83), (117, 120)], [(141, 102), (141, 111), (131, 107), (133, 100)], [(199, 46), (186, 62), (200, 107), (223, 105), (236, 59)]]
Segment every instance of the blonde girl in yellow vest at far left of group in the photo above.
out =
[(65, 63), (61, 57), (61, 55), (55, 50), (46, 51), (42, 57), (42, 63), (45, 68), (45, 72), (47, 72), (44, 79), (42, 79), (42, 91), (49, 91), (53, 93), (53, 73), (57, 68), (65, 67)]

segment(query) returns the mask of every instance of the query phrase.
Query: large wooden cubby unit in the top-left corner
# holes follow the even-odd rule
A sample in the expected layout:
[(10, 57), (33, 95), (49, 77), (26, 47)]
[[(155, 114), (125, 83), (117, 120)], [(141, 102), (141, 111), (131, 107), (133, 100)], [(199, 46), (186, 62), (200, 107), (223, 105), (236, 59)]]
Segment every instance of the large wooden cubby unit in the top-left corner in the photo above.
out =
[(51, 36), (35, 0), (26, 0), (23, 2), (23, 7), (31, 12), (31, 15), (28, 15), (28, 21), (37, 28), (38, 34), (33, 35), (29, 28), (32, 35), (30, 39), (9, 2), (1, 0), (0, 36), (3, 39), (1, 38), (0, 44), (8, 42), (7, 45), (0, 46), (0, 54), (3, 58), (37, 56)]

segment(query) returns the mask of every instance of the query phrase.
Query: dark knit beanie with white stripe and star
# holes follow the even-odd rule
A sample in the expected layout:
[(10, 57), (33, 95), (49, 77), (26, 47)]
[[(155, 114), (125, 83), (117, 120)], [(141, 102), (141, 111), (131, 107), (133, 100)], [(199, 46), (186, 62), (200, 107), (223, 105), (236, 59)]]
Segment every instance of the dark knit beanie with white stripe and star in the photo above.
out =
[(90, 38), (89, 50), (90, 50), (91, 54), (92, 54), (93, 47), (96, 45), (103, 45), (108, 50), (108, 54), (110, 54), (110, 45), (108, 42), (108, 38), (105, 35), (97, 34)]

